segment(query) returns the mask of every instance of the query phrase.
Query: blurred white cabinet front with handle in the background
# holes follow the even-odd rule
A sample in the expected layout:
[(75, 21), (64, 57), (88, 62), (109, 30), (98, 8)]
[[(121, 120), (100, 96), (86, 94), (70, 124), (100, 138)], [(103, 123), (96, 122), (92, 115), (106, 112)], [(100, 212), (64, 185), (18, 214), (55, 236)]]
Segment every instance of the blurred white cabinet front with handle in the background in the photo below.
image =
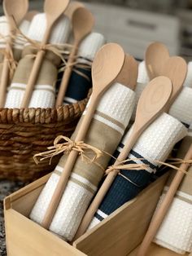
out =
[(164, 42), (171, 53), (179, 53), (180, 21), (177, 17), (127, 7), (85, 3), (95, 16), (95, 30), (105, 34), (108, 42), (118, 42), (124, 51), (143, 59), (146, 46)]

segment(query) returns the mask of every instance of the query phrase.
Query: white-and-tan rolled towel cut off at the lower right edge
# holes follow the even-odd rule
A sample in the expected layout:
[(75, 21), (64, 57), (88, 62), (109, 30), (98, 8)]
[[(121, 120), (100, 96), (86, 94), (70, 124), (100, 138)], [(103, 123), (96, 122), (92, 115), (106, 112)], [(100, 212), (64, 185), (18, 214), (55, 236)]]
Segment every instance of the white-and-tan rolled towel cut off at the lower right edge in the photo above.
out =
[[(185, 157), (185, 153), (190, 148), (191, 143), (192, 137), (186, 137), (181, 143), (177, 157)], [(155, 236), (156, 244), (171, 249), (178, 254), (185, 254), (186, 252), (192, 251), (192, 166), (190, 166), (188, 172), (190, 175), (185, 175), (182, 180), (168, 213)], [(175, 174), (176, 171), (172, 171), (159, 200), (159, 205), (164, 200), (164, 196)]]

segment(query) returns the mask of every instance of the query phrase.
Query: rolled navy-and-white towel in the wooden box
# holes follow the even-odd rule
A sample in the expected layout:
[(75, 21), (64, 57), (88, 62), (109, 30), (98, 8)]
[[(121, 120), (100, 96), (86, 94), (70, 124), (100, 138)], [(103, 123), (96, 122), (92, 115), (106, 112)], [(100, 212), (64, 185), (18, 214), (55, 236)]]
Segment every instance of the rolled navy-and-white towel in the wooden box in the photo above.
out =
[[(125, 135), (115, 157), (124, 148), (124, 144), (129, 140), (130, 133), (131, 130)], [(116, 176), (94, 215), (89, 229), (100, 223), (104, 218), (107, 218), (109, 214), (117, 210), (121, 205), (136, 197), (143, 188), (146, 188), (151, 175), (159, 167), (155, 160), (165, 161), (175, 143), (185, 137), (186, 134), (187, 129), (185, 126), (167, 113), (163, 113), (157, 118), (139, 137), (128, 157), (128, 159), (136, 158), (131, 161), (132, 163), (144, 163), (149, 167), (147, 170), (120, 170), (120, 175)], [(144, 160), (139, 160), (138, 158), (143, 158)]]

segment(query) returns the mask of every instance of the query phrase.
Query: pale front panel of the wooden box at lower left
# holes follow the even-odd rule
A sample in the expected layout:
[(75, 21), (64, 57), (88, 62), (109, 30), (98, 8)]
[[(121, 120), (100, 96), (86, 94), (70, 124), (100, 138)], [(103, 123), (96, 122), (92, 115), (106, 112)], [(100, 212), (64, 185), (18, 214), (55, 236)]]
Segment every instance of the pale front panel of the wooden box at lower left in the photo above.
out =
[(8, 256), (85, 256), (15, 210), (5, 211)]

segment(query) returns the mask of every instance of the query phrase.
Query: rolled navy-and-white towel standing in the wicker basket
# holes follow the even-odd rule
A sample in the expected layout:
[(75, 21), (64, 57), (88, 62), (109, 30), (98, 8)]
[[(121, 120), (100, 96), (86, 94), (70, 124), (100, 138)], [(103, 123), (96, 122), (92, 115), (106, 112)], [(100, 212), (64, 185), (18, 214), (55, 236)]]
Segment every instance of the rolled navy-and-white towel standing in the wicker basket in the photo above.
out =
[[(90, 33), (82, 42), (77, 54), (77, 63), (85, 67), (73, 68), (72, 76), (68, 82), (68, 90), (64, 98), (64, 104), (73, 104), (85, 99), (89, 89), (92, 87), (91, 64), (98, 50), (105, 44), (106, 40), (101, 33)], [(59, 73), (59, 82), (63, 73)]]

